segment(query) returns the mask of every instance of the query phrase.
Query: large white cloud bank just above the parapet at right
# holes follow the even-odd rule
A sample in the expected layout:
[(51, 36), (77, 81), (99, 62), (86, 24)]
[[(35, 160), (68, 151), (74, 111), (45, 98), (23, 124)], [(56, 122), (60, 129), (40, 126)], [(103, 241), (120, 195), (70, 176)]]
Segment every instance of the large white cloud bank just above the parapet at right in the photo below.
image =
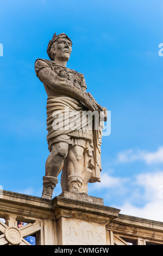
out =
[(122, 214), (163, 222), (163, 171), (141, 173), (133, 177), (114, 177), (103, 173), (101, 183), (90, 185), (104, 199), (104, 205), (120, 209)]

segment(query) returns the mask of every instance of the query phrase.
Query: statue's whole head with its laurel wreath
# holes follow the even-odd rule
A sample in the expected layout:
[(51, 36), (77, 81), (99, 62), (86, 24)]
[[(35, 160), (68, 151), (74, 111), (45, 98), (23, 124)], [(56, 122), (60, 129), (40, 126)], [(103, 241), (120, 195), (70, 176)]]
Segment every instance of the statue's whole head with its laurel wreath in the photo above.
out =
[(72, 51), (72, 41), (65, 33), (53, 35), (52, 40), (49, 41), (47, 47), (47, 54), (49, 58), (54, 61), (61, 58), (68, 61)]

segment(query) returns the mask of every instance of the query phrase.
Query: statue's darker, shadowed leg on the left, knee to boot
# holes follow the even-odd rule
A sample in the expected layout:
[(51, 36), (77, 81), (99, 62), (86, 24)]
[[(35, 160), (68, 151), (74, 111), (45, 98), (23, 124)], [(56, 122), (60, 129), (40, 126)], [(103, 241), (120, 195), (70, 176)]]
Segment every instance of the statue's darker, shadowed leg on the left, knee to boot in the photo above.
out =
[(67, 157), (68, 144), (66, 142), (57, 142), (52, 145), (52, 151), (49, 154), (45, 165), (45, 176), (43, 176), (42, 198), (52, 199), (53, 190), (58, 183), (58, 175)]

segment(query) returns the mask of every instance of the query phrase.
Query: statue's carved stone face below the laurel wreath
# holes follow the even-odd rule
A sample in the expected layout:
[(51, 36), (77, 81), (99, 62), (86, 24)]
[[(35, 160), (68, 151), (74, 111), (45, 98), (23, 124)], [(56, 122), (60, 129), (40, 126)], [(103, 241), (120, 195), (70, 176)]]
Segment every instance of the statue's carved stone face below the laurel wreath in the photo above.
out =
[(52, 46), (55, 59), (64, 59), (68, 61), (72, 52), (72, 44), (66, 38), (58, 39)]

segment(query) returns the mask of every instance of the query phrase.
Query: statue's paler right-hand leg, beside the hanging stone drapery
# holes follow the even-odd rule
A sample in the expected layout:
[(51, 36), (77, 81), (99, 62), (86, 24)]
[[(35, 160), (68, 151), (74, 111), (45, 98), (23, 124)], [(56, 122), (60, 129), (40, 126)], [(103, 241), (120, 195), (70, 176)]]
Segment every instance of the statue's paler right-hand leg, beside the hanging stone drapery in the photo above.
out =
[(68, 191), (79, 192), (83, 183), (83, 152), (84, 148), (81, 146), (73, 146), (68, 151)]

